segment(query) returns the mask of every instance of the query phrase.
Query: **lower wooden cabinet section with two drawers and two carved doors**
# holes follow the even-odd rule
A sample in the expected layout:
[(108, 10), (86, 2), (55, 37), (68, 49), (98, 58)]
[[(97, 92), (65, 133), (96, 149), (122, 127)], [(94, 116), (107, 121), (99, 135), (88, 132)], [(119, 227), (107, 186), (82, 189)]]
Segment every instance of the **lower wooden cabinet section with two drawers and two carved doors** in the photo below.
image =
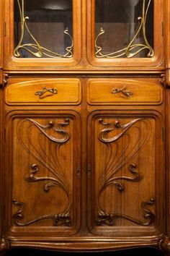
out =
[[(45, 79), (51, 88), (36, 98), (34, 85), (37, 81), (41, 92), (42, 78), (18, 83), (9, 79), (4, 90), (0, 252), (15, 247), (170, 251), (164, 88), (156, 78), (145, 79), (146, 92), (156, 89), (155, 98), (145, 101), (145, 90), (141, 97), (139, 91), (142, 79), (124, 80), (117, 88), (116, 79), (100, 79), (98, 91), (97, 79)], [(124, 82), (126, 88), (121, 89)], [(22, 86), (30, 88), (23, 105), (17, 100)], [(65, 95), (63, 88), (71, 94)], [(105, 88), (110, 95), (102, 100)], [(59, 99), (54, 89), (60, 89)], [(72, 97), (71, 103), (62, 95)]]

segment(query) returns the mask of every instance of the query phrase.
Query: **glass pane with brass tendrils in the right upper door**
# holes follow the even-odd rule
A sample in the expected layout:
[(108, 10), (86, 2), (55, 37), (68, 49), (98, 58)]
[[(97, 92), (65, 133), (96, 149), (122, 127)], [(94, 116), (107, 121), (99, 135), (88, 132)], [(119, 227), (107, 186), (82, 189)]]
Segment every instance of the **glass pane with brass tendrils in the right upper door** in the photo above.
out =
[(95, 0), (95, 55), (146, 58), (153, 51), (153, 0)]

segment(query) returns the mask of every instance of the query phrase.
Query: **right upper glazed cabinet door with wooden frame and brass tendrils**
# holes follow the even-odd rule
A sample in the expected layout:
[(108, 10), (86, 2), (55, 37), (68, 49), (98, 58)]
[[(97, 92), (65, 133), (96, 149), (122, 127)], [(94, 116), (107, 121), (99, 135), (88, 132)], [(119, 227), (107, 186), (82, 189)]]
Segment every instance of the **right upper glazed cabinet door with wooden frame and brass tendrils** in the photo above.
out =
[(160, 67), (164, 1), (88, 1), (88, 56), (94, 66)]

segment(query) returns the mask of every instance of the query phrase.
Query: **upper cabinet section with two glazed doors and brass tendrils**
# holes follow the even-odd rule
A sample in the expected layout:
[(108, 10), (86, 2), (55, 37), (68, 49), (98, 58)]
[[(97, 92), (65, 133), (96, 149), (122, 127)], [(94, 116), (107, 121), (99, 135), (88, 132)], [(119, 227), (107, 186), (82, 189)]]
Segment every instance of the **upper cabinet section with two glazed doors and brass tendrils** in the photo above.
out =
[(165, 67), (169, 0), (2, 1), (6, 70)]

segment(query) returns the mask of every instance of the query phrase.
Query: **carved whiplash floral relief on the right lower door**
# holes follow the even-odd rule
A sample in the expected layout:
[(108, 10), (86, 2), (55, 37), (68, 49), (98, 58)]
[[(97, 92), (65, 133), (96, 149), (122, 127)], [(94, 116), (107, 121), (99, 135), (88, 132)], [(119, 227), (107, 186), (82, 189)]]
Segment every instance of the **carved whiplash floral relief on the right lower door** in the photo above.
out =
[[(147, 133), (146, 135), (142, 135), (142, 130), (138, 125), (135, 125), (138, 122), (143, 122), (143, 125), (146, 127)], [(142, 226), (151, 225), (155, 221), (155, 215), (148, 208), (149, 205), (154, 204), (154, 199), (151, 198), (150, 201), (144, 201), (141, 203), (141, 208), (144, 211), (144, 218), (148, 221), (138, 221), (135, 218), (130, 216), (126, 216), (120, 213), (107, 213), (104, 210), (103, 205), (100, 202), (100, 197), (104, 189), (109, 186), (116, 186), (117, 189), (122, 192), (125, 189), (125, 185), (122, 184), (122, 181), (126, 182), (140, 182), (143, 179), (143, 174), (138, 171), (138, 166), (135, 163), (130, 163), (133, 160), (135, 155), (137, 155), (146, 145), (148, 139), (151, 135), (151, 126), (148, 120), (138, 118), (133, 119), (132, 121), (126, 124), (120, 124), (119, 120), (115, 120), (112, 123), (104, 122), (103, 119), (99, 119), (99, 124), (104, 126), (104, 129), (101, 129), (99, 132), (99, 141), (104, 143), (107, 147), (107, 160), (102, 170), (102, 174), (99, 174), (99, 188), (98, 188), (98, 215), (97, 215), (97, 225), (115, 225), (115, 220), (117, 218), (124, 218), (128, 221), (136, 223)], [(130, 141), (130, 128), (136, 130), (135, 140), (134, 142)], [(113, 133), (115, 131), (115, 135), (112, 137), (109, 136), (109, 133)], [(120, 137), (126, 136), (128, 139), (124, 143), (125, 145), (122, 148), (122, 153), (117, 157), (117, 147), (118, 141)], [(114, 148), (114, 150), (113, 150)], [(130, 163), (130, 164), (129, 164)], [(129, 164), (129, 166), (128, 166)], [(124, 167), (128, 166), (128, 171), (133, 176), (121, 176), (117, 175), (117, 173)]]

